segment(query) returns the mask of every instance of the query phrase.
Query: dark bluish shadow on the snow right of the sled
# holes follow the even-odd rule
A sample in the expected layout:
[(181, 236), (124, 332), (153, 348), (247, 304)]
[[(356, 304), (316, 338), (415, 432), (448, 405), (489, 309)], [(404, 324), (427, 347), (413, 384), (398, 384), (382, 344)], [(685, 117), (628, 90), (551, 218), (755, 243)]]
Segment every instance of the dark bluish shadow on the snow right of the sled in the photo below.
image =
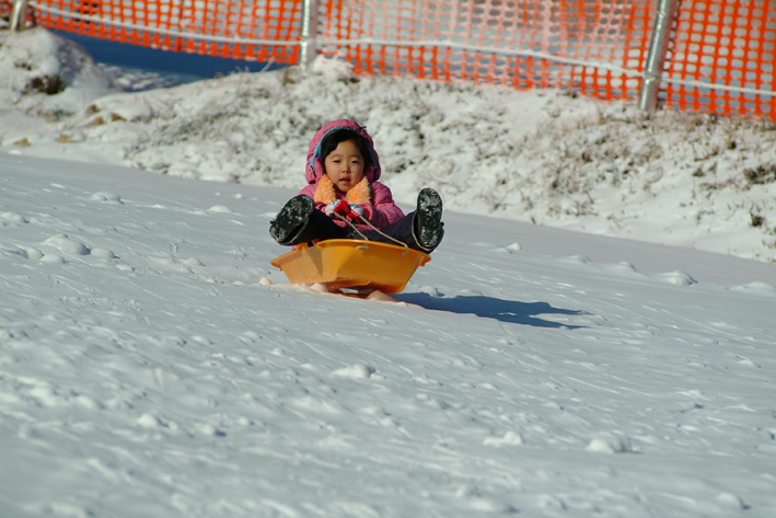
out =
[(458, 296), (451, 299), (431, 297), (428, 293), (393, 293), (397, 300), (437, 311), (459, 314), (475, 314), (510, 324), (533, 325), (534, 327), (556, 327), (578, 330), (583, 325), (568, 325), (537, 319), (537, 314), (590, 314), (587, 311), (553, 308), (547, 302), (518, 302), (494, 297)]

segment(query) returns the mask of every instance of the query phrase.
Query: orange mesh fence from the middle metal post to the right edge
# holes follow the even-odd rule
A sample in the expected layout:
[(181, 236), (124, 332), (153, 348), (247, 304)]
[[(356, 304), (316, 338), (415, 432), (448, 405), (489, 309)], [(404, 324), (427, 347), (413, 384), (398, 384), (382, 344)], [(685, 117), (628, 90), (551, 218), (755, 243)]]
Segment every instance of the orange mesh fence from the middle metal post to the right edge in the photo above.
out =
[[(357, 73), (565, 88), (611, 101), (638, 96), (658, 2), (329, 0), (326, 8), (323, 51), (344, 54)], [(682, 2), (671, 39), (663, 105), (776, 120), (776, 0)]]

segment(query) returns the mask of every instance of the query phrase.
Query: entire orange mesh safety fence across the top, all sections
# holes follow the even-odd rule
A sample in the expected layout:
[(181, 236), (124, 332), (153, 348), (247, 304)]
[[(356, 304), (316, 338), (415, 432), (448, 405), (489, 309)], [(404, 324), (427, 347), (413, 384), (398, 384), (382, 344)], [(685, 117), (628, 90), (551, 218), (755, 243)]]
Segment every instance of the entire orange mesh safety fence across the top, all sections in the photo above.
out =
[[(633, 101), (658, 0), (318, 0), (317, 44), (359, 74)], [(0, 0), (0, 15), (10, 13)], [(167, 50), (298, 64), (301, 0), (35, 0), (38, 24)], [(681, 2), (659, 103), (776, 120), (776, 0)], [(719, 88), (710, 89), (714, 84)]]

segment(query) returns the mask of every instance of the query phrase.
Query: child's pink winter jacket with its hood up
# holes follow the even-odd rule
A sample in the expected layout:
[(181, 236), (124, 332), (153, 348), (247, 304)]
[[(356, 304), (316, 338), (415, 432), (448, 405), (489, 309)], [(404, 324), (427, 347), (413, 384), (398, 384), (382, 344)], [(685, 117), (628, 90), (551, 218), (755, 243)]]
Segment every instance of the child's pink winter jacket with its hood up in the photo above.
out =
[[(371, 157), (364, 157), (364, 160), (367, 161), (364, 176), (369, 181), (371, 203), (359, 204), (359, 207), (363, 209), (363, 217), (379, 229), (395, 223), (404, 217), (404, 212), (401, 208), (398, 208), (398, 206), (396, 206), (396, 204), (394, 204), (391, 189), (386, 185), (378, 182), (381, 172), (380, 159), (378, 157), (378, 152), (374, 150), (372, 137), (369, 136), (367, 130), (360, 124), (352, 120), (334, 120), (325, 125), (313, 136), (313, 140), (310, 142), (306, 162), (306, 177), (310, 185), (304, 187), (299, 194), (305, 194), (311, 198), (315, 197), (317, 182), (321, 180), (321, 176), (325, 174), (323, 159), (321, 157), (321, 141), (331, 131), (341, 128), (351, 129), (363, 137), (367, 141), (369, 152), (371, 153)], [(346, 199), (345, 194), (343, 193), (336, 192), (336, 196), (338, 199)], [(326, 204), (317, 202), (315, 203), (315, 208), (323, 211), (326, 208)], [(345, 227), (346, 225), (345, 221), (340, 220), (334, 220), (334, 222), (340, 227)], [(359, 230), (370, 230), (367, 225), (357, 225), (356, 227)]]

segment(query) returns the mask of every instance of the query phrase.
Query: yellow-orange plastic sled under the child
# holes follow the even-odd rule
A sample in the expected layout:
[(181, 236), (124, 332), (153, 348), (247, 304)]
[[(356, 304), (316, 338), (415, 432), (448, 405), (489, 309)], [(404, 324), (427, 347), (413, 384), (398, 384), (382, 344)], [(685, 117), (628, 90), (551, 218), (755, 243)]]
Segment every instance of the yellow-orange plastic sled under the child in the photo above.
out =
[(292, 284), (323, 284), (329, 290), (358, 288), (402, 291), (418, 266), (431, 256), (417, 250), (352, 239), (301, 244), (273, 260)]

